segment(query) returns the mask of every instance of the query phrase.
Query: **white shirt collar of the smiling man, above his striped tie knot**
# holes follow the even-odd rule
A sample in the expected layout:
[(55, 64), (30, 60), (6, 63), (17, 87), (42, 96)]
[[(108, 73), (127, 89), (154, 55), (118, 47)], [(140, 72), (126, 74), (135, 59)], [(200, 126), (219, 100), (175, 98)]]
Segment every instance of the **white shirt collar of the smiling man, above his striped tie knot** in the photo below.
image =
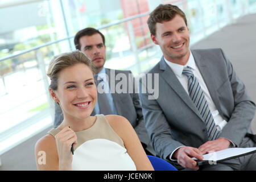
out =
[[(190, 51), (190, 50), (189, 50)], [(194, 56), (192, 55), (192, 52), (190, 51), (190, 55), (188, 58), (188, 62), (185, 65), (180, 65), (180, 64), (175, 64), (175, 63), (171, 63), (170, 61), (168, 61), (165, 57), (164, 57), (164, 61), (166, 62), (166, 64), (172, 69), (172, 71), (174, 72), (174, 74), (176, 76), (181, 76), (183, 69), (185, 67), (191, 67), (192, 70), (196, 69), (196, 63), (195, 63), (195, 59)]]

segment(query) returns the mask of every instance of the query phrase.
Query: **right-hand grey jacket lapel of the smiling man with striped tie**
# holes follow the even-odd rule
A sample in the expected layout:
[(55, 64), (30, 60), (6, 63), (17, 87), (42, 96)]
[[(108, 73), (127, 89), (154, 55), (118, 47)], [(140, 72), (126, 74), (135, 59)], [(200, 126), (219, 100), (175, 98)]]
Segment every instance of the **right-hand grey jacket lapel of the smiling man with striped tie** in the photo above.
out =
[[(223, 115), (220, 107), (220, 100), (218, 99), (217, 92), (216, 92), (216, 82), (214, 82), (213, 78), (215, 75), (214, 72), (210, 68), (210, 65), (207, 64), (207, 57), (201, 56), (199, 53), (197, 53), (195, 50), (191, 51), (193, 54), (193, 57), (195, 59), (196, 65), (199, 68), (199, 71), (204, 79), (205, 84), (207, 85), (208, 91), (210, 93), (210, 97), (212, 97), (213, 103), (216, 106), (216, 109), (220, 113), (220, 115)], [(210, 58), (208, 58), (210, 59)], [(213, 60), (214, 61), (214, 60)]]

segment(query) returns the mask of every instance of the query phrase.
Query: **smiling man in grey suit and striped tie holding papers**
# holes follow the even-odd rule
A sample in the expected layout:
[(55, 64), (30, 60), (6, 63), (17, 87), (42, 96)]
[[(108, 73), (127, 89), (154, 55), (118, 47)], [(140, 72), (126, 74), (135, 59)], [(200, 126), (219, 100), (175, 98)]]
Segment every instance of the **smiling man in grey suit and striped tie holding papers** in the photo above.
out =
[(250, 127), (255, 104), (221, 49), (189, 49), (187, 19), (177, 6), (159, 5), (147, 23), (163, 52), (147, 73), (159, 74), (159, 96), (149, 100), (150, 94), (139, 93), (156, 155), (187, 169), (256, 170), (255, 153), (197, 166), (192, 157), (256, 147)]

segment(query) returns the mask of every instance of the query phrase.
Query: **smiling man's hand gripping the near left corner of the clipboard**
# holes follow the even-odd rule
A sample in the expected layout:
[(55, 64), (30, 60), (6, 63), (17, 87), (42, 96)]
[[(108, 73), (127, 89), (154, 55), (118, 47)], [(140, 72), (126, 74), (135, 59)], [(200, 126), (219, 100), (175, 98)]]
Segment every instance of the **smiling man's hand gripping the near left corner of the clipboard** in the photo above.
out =
[(180, 147), (174, 152), (173, 157), (177, 159), (180, 166), (195, 170), (198, 170), (199, 167), (197, 166), (195, 160), (191, 158), (195, 157), (199, 160), (204, 159), (201, 152), (197, 148), (193, 147)]

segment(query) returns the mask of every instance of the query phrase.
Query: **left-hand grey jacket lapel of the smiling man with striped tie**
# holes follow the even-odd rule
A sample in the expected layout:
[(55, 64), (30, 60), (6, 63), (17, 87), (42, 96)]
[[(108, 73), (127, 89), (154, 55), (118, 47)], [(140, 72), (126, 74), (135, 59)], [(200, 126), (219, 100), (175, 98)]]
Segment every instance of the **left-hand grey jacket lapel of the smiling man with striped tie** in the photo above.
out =
[(171, 86), (171, 88), (176, 92), (176, 94), (181, 98), (181, 100), (183, 100), (185, 104), (187, 104), (188, 107), (191, 108), (198, 115), (198, 117), (203, 121), (195, 104), (193, 104), (191, 98), (188, 96), (187, 92), (185, 92), (185, 89), (180, 84), (180, 81), (177, 79), (175, 73), (172, 71), (170, 67), (168, 67), (163, 57), (159, 64), (160, 64), (160, 70), (163, 71), (163, 72), (160, 72), (160, 76), (164, 78), (164, 80), (168, 83), (169, 86)]

